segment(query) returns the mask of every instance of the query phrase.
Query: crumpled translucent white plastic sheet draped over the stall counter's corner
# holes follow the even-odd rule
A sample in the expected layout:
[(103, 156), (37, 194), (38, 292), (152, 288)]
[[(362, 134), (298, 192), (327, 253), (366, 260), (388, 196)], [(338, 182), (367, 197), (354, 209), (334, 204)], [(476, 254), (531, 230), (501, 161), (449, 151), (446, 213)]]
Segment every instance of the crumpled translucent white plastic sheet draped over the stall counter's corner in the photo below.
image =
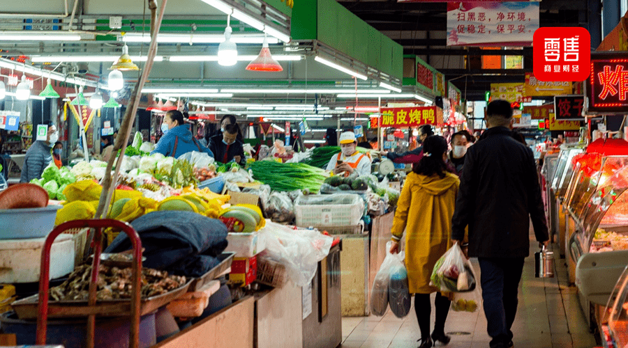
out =
[(266, 242), (265, 257), (281, 262), (287, 276), (297, 286), (306, 286), (314, 278), (318, 262), (329, 255), (334, 238), (317, 230), (293, 230), (279, 223), (267, 221), (260, 234)]

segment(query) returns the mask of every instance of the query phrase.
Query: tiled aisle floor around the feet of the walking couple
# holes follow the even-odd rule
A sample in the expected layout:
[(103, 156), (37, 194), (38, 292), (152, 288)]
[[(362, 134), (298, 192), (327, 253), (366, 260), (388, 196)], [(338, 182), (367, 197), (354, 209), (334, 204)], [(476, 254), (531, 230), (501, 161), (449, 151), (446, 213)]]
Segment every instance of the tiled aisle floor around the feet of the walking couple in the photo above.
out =
[[(554, 246), (555, 247), (555, 246)], [(525, 259), (519, 290), (519, 307), (513, 326), (515, 348), (592, 348), (595, 338), (578, 302), (576, 287), (567, 284), (565, 260), (555, 260), (557, 277), (534, 278), (534, 251)], [(555, 255), (558, 255), (556, 253)], [(472, 260), (477, 271), (477, 260)], [(433, 299), (434, 295), (432, 295)], [(433, 300), (432, 300), (433, 303)], [(432, 325), (434, 309), (432, 308)], [(476, 313), (449, 312), (445, 332), (451, 335), (447, 347), (488, 348), (486, 317), (479, 306)], [(416, 348), (420, 338), (414, 308), (398, 319), (390, 310), (384, 317), (344, 317), (343, 348)], [(436, 347), (442, 347), (440, 343)]]

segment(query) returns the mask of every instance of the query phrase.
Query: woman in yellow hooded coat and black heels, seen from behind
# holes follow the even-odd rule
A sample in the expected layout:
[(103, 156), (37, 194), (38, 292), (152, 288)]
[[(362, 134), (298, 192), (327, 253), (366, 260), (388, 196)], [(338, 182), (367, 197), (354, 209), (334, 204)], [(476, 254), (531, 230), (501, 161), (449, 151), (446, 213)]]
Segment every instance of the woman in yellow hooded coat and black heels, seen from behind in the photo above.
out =
[[(451, 301), (430, 286), (436, 261), (451, 246), (451, 217), (460, 180), (447, 172), (447, 141), (430, 136), (424, 141), (424, 156), (414, 165), (403, 184), (392, 227), (391, 253), (398, 253), (405, 236), (405, 267), (408, 269), (410, 294), (414, 294), (414, 310), (421, 329), (419, 348), (432, 347), (433, 341), (449, 343), (444, 333)], [(430, 294), (436, 293), (436, 322), (430, 336)]]

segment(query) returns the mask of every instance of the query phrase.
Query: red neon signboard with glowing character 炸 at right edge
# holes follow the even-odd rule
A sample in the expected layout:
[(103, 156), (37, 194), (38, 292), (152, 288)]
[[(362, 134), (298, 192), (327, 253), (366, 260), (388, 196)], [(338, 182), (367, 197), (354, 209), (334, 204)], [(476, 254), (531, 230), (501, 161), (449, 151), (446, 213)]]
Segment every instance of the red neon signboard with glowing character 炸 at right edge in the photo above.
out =
[(587, 97), (588, 111), (592, 113), (628, 111), (628, 54), (591, 54)]

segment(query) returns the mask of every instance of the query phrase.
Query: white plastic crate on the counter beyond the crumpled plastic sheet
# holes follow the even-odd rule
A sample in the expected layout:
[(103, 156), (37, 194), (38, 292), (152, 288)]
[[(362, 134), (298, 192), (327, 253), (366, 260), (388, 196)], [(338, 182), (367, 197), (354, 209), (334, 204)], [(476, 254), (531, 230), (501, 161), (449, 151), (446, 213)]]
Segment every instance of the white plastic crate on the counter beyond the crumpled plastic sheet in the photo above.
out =
[(364, 200), (351, 193), (299, 196), (294, 203), (297, 226), (357, 226), (364, 214)]

